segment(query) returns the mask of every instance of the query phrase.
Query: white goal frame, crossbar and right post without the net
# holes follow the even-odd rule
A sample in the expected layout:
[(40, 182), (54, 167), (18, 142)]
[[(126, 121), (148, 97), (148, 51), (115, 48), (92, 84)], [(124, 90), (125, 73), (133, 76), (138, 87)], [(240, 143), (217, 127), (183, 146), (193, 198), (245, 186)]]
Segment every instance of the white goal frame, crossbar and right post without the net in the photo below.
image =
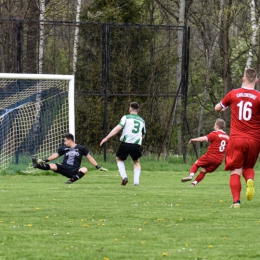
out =
[(75, 104), (74, 104), (74, 75), (56, 75), (56, 74), (18, 74), (18, 73), (0, 73), (0, 79), (34, 79), (34, 80), (67, 80), (69, 81), (68, 102), (69, 102), (69, 132), (75, 138)]

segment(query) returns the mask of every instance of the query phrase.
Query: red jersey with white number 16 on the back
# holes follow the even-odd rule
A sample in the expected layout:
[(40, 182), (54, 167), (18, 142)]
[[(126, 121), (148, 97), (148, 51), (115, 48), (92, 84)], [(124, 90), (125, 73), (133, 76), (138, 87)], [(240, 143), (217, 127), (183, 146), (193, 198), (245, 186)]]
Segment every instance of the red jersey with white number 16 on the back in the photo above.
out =
[(260, 93), (257, 90), (243, 86), (231, 90), (220, 105), (231, 108), (231, 138), (253, 138), (260, 141)]

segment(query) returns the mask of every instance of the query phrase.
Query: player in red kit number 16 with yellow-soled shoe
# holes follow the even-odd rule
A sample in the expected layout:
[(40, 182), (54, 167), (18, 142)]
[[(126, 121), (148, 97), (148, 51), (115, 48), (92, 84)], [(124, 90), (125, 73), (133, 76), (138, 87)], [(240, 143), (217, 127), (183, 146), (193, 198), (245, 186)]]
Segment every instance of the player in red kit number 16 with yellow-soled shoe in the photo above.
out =
[(225, 170), (231, 171), (230, 190), (232, 208), (240, 208), (241, 181), (246, 184), (246, 198), (254, 197), (254, 166), (260, 151), (260, 93), (254, 89), (258, 82), (256, 71), (247, 69), (241, 88), (231, 90), (219, 104), (216, 111), (231, 108), (230, 141), (226, 151)]

